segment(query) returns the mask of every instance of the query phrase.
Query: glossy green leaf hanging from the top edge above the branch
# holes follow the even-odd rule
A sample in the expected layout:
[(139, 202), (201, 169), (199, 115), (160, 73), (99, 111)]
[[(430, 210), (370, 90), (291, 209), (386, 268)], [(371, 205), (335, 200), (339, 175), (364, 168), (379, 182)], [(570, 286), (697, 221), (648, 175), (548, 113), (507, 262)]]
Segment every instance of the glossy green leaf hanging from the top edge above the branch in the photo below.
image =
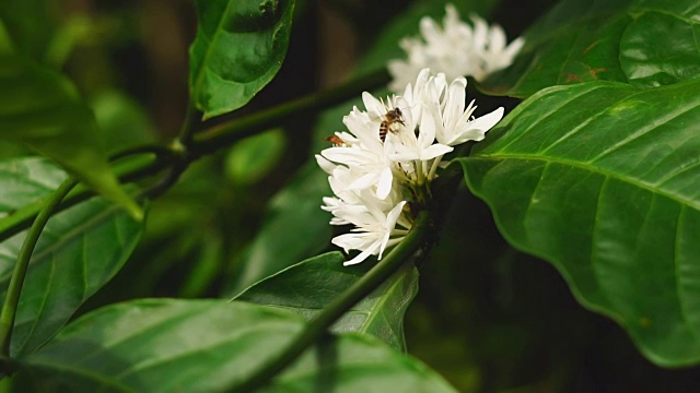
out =
[(189, 90), (203, 118), (237, 109), (282, 67), (294, 0), (197, 0)]

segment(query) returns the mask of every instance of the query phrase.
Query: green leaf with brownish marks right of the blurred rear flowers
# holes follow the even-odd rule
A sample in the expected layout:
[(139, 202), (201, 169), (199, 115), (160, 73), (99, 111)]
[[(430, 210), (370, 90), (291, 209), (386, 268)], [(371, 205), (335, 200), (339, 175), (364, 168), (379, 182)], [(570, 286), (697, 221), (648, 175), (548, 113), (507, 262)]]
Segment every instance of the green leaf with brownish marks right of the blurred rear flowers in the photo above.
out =
[(557, 84), (627, 82), (619, 43), (632, 0), (564, 0), (525, 34), (513, 66), (480, 85), (489, 94), (527, 97)]

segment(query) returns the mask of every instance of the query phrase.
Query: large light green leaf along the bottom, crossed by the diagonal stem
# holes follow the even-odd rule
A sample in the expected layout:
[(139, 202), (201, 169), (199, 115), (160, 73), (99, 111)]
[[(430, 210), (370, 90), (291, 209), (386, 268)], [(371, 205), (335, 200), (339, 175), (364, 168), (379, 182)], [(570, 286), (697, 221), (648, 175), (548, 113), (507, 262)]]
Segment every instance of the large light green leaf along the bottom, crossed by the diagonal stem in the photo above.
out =
[[(225, 300), (141, 299), (108, 306), (21, 359), (20, 390), (219, 392), (282, 350), (303, 326), (293, 313)], [(416, 360), (352, 335), (307, 353), (265, 391), (375, 386), (453, 391)]]

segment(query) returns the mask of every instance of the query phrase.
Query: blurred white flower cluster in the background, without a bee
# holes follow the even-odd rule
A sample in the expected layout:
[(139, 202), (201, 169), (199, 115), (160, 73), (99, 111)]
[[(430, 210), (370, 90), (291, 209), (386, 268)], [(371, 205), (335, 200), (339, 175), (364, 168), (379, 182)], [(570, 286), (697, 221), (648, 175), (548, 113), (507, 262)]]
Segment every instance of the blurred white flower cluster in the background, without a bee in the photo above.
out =
[(445, 12), (442, 28), (425, 16), (420, 21), (422, 39), (404, 38), (399, 43), (408, 59), (388, 63), (394, 78), (389, 84), (393, 92), (400, 92), (423, 68), (444, 72), (448, 80), (472, 76), (482, 81), (509, 67), (525, 44), (523, 38), (517, 38), (506, 46), (503, 28), (489, 26), (476, 15), (471, 15), (474, 27), (462, 22), (452, 4), (445, 7)]

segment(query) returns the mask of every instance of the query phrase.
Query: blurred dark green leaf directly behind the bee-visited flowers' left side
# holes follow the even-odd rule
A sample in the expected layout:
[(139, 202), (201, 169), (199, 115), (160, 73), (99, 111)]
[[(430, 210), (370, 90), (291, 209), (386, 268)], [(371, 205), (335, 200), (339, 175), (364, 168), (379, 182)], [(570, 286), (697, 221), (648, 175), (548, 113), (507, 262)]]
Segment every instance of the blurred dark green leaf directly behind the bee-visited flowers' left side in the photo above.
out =
[(318, 253), (330, 243), (330, 216), (320, 195), (330, 194), (328, 175), (307, 163), (291, 183), (272, 198), (262, 228), (240, 261), (236, 282), (228, 290), (240, 294), (252, 284)]

